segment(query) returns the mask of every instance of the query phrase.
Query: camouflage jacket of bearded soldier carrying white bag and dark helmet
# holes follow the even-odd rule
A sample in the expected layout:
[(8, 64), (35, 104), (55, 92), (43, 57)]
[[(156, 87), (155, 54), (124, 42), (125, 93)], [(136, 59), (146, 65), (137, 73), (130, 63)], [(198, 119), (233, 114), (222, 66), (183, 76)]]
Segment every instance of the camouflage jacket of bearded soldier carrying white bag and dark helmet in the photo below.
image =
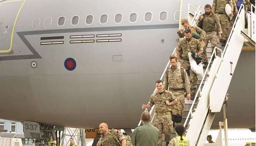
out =
[(176, 49), (179, 51), (180, 56), (183, 60), (188, 61), (188, 53), (194, 51), (198, 53), (199, 51), (203, 51), (203, 48), (197, 39), (191, 37), (190, 40), (183, 39), (178, 43)]

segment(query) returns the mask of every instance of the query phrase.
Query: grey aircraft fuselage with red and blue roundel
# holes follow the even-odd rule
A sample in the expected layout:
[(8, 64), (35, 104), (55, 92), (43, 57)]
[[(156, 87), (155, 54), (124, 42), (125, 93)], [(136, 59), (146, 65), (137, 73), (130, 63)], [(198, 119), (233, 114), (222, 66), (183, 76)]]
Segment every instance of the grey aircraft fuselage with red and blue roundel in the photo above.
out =
[[(0, 2), (0, 118), (135, 128), (178, 44), (179, 9), (180, 0)], [(240, 58), (228, 126), (255, 129), (255, 51)]]

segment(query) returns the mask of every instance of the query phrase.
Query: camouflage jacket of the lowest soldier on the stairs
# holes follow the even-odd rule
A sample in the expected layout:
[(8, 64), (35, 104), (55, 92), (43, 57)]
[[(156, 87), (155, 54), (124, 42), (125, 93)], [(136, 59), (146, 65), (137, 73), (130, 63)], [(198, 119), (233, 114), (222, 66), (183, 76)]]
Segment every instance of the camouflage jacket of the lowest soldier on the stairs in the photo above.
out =
[(171, 111), (171, 107), (166, 104), (166, 100), (171, 102), (176, 100), (176, 98), (173, 96), (173, 93), (168, 90), (164, 90), (164, 93), (161, 95), (156, 91), (151, 95), (148, 104), (151, 106), (155, 104), (156, 113), (165, 113)]

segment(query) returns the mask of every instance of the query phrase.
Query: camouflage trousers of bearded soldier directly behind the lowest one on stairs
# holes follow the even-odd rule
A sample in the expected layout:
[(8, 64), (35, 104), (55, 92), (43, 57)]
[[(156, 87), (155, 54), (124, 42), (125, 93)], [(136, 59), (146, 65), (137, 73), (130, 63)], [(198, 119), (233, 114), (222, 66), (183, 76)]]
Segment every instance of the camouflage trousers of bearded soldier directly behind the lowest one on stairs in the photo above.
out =
[(184, 90), (170, 90), (174, 97), (178, 98), (178, 102), (171, 106), (171, 111), (174, 115), (180, 114), (183, 117), (185, 108), (185, 92)]

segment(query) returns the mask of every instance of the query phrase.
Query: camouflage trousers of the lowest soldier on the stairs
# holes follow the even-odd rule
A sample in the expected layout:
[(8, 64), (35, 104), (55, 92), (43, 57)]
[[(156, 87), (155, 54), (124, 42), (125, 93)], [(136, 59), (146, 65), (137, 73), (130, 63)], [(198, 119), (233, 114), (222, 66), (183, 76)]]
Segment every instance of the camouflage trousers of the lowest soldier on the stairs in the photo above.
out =
[(162, 133), (164, 133), (165, 141), (171, 140), (171, 132), (173, 131), (173, 121), (171, 120), (171, 113), (156, 114), (153, 125), (159, 130), (159, 137), (157, 146), (162, 146)]

